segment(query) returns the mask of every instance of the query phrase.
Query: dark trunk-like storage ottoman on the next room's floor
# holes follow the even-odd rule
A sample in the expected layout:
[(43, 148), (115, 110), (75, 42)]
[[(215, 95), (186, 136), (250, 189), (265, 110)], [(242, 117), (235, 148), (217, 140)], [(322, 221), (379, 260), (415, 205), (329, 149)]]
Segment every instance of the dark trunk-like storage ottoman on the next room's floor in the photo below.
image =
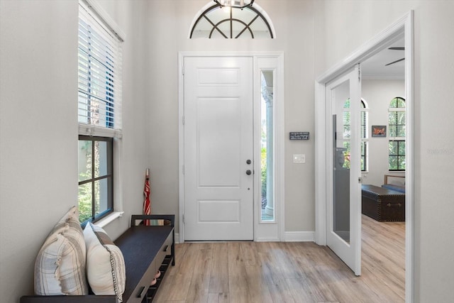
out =
[(377, 221), (405, 221), (405, 194), (375, 185), (361, 186), (362, 214)]

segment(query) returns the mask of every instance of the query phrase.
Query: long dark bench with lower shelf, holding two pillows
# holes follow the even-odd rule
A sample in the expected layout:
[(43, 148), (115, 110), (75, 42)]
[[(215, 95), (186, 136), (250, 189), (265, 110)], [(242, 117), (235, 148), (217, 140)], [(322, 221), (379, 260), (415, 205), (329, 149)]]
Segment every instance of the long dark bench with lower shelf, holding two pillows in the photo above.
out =
[[(167, 220), (164, 226), (144, 226), (145, 220)], [(149, 303), (153, 301), (169, 265), (175, 265), (175, 215), (133, 215), (131, 227), (116, 241), (126, 264), (126, 289), (123, 303)], [(161, 275), (150, 286), (157, 270)], [(118, 303), (115, 295), (86, 296), (23, 296), (21, 303)]]

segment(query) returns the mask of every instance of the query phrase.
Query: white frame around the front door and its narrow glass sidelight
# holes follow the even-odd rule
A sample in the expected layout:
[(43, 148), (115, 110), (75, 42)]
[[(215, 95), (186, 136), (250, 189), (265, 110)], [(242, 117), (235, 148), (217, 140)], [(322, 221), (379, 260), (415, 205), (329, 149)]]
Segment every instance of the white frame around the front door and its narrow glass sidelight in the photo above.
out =
[[(184, 242), (184, 57), (253, 57), (253, 98), (254, 104), (260, 98), (260, 70), (270, 69), (262, 59), (275, 59), (275, 223), (260, 223), (260, 192), (257, 184), (260, 174), (254, 176), (254, 241), (284, 241), (284, 53), (283, 52), (179, 52), (178, 53), (178, 150), (179, 150), (179, 243)], [(262, 63), (263, 66), (262, 66)], [(257, 79), (258, 78), (258, 79)], [(260, 101), (260, 99), (259, 99)], [(260, 113), (254, 113), (254, 120), (260, 118)], [(254, 141), (260, 137), (260, 123), (254, 122)], [(257, 135), (258, 134), (258, 135)], [(255, 145), (254, 145), (255, 146)], [(254, 170), (260, 171), (260, 151), (254, 151)], [(272, 236), (267, 236), (267, 235)]]

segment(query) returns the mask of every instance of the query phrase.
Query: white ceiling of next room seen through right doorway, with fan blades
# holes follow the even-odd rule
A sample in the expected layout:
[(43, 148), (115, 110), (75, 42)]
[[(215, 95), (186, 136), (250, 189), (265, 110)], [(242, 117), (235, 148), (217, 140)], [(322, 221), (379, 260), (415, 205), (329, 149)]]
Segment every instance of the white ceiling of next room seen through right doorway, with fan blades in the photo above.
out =
[(404, 38), (362, 62), (362, 79), (405, 79), (405, 60), (385, 66), (390, 62), (402, 59), (405, 53), (404, 50), (389, 50), (388, 48), (403, 46)]

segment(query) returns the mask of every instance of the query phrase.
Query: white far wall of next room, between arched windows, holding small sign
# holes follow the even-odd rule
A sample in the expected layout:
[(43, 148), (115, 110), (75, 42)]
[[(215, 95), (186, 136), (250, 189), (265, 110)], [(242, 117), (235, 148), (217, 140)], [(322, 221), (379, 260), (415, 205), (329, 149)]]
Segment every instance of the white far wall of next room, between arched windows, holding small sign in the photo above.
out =
[(388, 125), (389, 102), (395, 97), (405, 98), (404, 80), (362, 80), (362, 99), (369, 106), (369, 126), (367, 127), (369, 145), (368, 172), (362, 174), (364, 184), (382, 186), (384, 175), (404, 175), (404, 173), (389, 172), (389, 129), (387, 137), (372, 137), (373, 125)]

